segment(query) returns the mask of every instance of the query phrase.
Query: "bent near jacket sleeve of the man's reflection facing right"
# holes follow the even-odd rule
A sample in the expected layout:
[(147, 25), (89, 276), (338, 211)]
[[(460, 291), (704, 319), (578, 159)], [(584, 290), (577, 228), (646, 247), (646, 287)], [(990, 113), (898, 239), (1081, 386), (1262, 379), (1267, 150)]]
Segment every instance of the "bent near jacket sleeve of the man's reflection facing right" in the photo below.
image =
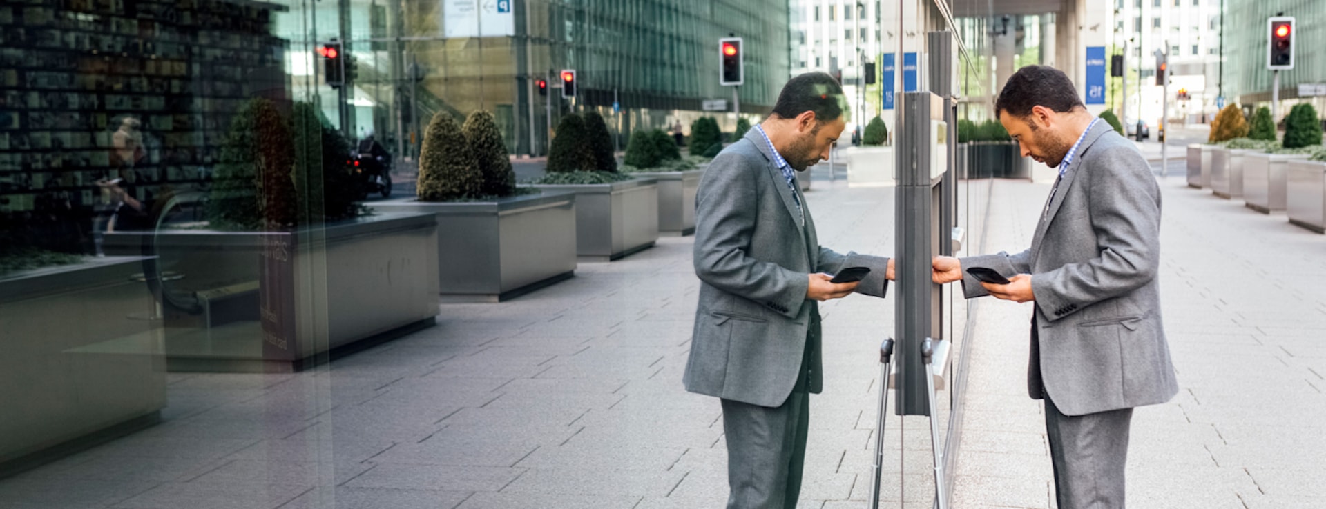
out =
[(695, 199), (695, 274), (717, 289), (796, 318), (806, 300), (809, 274), (748, 253), (760, 209), (757, 170), (733, 152), (720, 154), (705, 170)]

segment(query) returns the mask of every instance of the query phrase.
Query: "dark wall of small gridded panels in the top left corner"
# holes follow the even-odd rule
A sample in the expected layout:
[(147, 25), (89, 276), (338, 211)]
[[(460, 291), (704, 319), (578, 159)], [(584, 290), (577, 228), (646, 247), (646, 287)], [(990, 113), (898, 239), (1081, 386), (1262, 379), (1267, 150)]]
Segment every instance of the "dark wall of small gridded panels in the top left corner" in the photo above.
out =
[[(0, 7), (0, 215), (45, 211), (27, 235), (66, 251), (125, 178), (133, 198), (207, 179), (231, 114), (255, 95), (289, 99), (269, 33), (276, 4), (256, 1), (29, 1)], [(141, 156), (114, 143), (138, 123)], [(138, 138), (135, 138), (137, 141)], [(85, 232), (88, 227), (84, 227)]]

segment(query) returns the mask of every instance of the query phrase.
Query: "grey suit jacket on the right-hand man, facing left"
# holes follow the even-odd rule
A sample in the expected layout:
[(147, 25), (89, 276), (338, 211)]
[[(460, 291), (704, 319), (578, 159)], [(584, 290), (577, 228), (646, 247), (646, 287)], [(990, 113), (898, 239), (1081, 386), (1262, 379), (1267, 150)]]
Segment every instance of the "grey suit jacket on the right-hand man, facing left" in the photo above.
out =
[[(1065, 415), (1085, 415), (1164, 403), (1179, 391), (1160, 321), (1160, 188), (1138, 148), (1105, 122), (1083, 138), (1032, 248), (961, 265), (1032, 274), (1040, 338), (1032, 398), (1041, 382)], [(963, 290), (987, 294), (973, 277)]]

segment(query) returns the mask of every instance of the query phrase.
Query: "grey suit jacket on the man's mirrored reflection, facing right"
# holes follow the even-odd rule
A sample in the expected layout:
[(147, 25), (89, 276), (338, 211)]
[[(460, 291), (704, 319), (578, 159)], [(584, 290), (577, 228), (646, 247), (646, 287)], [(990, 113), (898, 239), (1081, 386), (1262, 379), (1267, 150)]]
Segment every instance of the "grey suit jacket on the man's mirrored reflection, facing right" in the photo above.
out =
[(819, 247), (810, 209), (802, 223), (793, 190), (753, 129), (713, 158), (695, 209), (700, 298), (686, 390), (777, 407), (792, 394), (809, 341), (810, 391), (819, 392), (819, 311), (806, 300), (808, 274), (869, 266), (857, 292), (883, 297), (888, 258)]

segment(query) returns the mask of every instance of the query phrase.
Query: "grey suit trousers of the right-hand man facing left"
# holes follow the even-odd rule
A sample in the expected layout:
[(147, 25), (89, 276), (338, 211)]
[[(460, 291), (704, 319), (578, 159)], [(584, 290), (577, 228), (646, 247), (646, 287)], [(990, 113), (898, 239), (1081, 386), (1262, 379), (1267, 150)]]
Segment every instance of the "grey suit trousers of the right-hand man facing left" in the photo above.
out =
[[(1032, 322), (1032, 370), (1040, 374), (1040, 334)], [(1032, 383), (1040, 383), (1036, 376)], [(1132, 408), (1086, 415), (1063, 415), (1044, 386), (1045, 432), (1054, 467), (1054, 492), (1059, 509), (1122, 509), (1123, 472), (1128, 463), (1128, 428)]]

